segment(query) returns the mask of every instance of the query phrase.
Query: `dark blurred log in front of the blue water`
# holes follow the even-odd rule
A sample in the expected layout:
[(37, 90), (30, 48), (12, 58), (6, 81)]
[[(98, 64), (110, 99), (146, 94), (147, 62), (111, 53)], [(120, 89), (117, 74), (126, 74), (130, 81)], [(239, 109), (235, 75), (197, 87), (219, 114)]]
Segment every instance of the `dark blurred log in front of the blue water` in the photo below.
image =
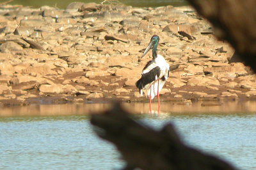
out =
[(139, 124), (120, 104), (91, 122), (97, 134), (116, 145), (127, 162), (125, 169), (235, 169), (223, 160), (190, 148), (180, 140), (171, 124), (155, 131)]

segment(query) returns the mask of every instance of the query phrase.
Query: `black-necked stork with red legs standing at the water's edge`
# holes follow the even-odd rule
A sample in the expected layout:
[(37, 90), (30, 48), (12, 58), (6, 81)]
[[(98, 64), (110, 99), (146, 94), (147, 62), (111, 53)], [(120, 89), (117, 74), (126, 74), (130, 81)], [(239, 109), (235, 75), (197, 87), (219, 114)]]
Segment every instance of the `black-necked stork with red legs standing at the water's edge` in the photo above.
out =
[[(149, 109), (151, 112), (151, 100), (157, 95), (158, 99), (158, 111), (160, 110), (160, 98), (159, 92), (163, 88), (169, 76), (170, 66), (162, 55), (156, 53), (157, 45), (159, 43), (159, 36), (152, 36), (150, 43), (148, 44), (142, 57), (146, 55), (148, 50), (152, 47), (153, 59), (150, 60), (143, 68), (140, 80), (136, 82), (136, 87), (140, 89), (141, 96), (144, 94), (149, 97)], [(141, 57), (141, 58), (142, 58)]]

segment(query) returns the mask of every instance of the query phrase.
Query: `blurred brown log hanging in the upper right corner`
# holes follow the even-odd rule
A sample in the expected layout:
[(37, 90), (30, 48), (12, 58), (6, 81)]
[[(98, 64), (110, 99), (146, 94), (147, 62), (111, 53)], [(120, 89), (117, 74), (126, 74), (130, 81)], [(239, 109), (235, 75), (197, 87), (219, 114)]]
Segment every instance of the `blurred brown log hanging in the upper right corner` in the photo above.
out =
[(226, 39), (245, 64), (256, 71), (256, 1), (188, 0), (212, 23), (215, 35)]

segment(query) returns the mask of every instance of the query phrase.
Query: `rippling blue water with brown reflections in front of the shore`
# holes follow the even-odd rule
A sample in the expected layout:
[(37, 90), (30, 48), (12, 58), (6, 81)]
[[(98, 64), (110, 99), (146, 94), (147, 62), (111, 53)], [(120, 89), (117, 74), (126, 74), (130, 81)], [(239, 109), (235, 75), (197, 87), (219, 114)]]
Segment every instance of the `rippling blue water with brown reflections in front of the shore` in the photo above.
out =
[[(162, 103), (162, 109), (168, 107), (169, 111), (152, 115), (147, 111), (141, 113), (148, 110), (147, 103), (124, 105), (138, 113), (136, 117), (141, 122), (156, 129), (173, 122), (190, 146), (241, 169), (256, 169), (255, 102), (207, 107), (202, 103)], [(156, 106), (154, 103), (153, 108)], [(230, 112), (225, 110), (227, 107)], [(1, 108), (0, 169), (120, 169), (124, 162), (119, 153), (113, 145), (95, 136), (90, 116), (85, 114), (106, 108), (109, 104)]]

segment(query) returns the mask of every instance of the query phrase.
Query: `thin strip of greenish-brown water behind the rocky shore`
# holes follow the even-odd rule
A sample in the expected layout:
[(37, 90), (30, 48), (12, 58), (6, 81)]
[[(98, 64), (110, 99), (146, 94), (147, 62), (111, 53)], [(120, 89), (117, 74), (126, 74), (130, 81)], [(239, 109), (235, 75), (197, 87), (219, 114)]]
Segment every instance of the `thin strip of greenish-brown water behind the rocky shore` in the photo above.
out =
[[(83, 3), (102, 3), (104, 0), (80, 0)], [(116, 3), (116, 0), (108, 0)], [(4, 1), (5, 2), (5, 1)], [(34, 1), (34, 0), (15, 0), (9, 4), (22, 4), (23, 6), (34, 6), (40, 7), (44, 5), (48, 6), (57, 6), (58, 8), (64, 9), (66, 6), (72, 2), (77, 2), (77, 0), (44, 0), (44, 1)], [(124, 3), (126, 5), (138, 6), (138, 7), (148, 7), (148, 6), (184, 6), (188, 3), (185, 0), (120, 0), (120, 3)]]

